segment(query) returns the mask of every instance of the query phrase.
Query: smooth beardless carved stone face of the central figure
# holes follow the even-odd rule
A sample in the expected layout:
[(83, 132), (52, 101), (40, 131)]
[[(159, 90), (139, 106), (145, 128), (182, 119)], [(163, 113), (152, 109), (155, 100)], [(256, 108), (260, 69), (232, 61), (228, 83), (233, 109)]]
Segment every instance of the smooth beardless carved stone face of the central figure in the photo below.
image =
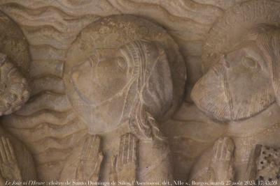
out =
[(106, 50), (106, 56), (90, 57), (73, 68), (71, 80), (80, 98), (88, 104), (100, 104), (116, 94), (130, 82), (132, 77), (130, 61), (119, 49)]

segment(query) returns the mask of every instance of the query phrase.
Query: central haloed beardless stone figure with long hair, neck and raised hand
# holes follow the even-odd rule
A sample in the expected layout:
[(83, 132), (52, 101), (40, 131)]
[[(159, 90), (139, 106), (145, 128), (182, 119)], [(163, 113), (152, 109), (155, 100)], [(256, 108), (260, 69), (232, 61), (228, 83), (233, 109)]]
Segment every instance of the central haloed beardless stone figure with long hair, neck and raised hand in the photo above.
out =
[[(177, 49), (159, 26), (130, 15), (90, 24), (70, 47), (66, 94), (88, 132), (102, 140), (107, 160), (97, 173), (100, 180), (111, 178), (125, 185), (136, 180), (172, 180), (169, 147), (158, 121), (182, 99), (186, 70), (181, 68)], [(71, 169), (66, 163), (62, 170), (62, 180), (71, 171), (75, 174), (76, 151), (67, 161)], [(94, 154), (98, 153), (95, 149)]]

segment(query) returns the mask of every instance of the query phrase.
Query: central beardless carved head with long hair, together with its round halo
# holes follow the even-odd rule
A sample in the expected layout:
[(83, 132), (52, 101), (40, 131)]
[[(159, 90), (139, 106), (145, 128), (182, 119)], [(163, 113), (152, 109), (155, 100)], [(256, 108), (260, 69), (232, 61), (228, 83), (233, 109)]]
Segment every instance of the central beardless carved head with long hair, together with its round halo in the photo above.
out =
[(186, 66), (162, 27), (132, 15), (103, 17), (66, 54), (67, 98), (91, 134), (129, 123), (141, 139), (158, 136), (183, 99)]

